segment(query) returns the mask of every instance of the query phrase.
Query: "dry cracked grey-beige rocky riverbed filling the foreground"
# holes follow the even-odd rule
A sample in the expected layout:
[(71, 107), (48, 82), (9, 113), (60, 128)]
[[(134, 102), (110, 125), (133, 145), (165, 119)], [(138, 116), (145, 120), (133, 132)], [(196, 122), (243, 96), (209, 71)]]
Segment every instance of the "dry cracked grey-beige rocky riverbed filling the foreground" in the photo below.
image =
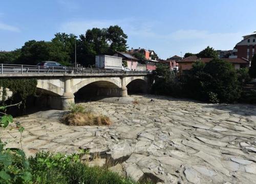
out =
[[(97, 164), (135, 180), (255, 183), (255, 106), (134, 98), (138, 104), (83, 103), (111, 117), (111, 126), (69, 127), (59, 123), (63, 111), (56, 110), (17, 118), (25, 127), (23, 148), (29, 155), (40, 150), (73, 153), (79, 147), (89, 149), (101, 157)], [(1, 132), (7, 146), (20, 147), (17, 130)]]

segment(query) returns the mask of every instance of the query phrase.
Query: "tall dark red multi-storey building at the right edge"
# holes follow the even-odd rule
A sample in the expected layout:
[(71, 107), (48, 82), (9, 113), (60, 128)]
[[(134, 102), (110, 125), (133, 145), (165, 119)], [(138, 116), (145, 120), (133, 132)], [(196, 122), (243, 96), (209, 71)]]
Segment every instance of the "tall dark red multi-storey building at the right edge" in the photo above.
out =
[(238, 42), (233, 49), (230, 58), (246, 58), (251, 61), (255, 54), (256, 31), (252, 34), (243, 36), (243, 40)]

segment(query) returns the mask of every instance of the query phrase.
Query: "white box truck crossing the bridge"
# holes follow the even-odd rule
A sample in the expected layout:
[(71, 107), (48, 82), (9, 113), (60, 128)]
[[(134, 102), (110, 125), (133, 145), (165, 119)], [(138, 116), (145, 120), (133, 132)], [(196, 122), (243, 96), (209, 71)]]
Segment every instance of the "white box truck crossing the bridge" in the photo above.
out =
[(97, 68), (122, 70), (122, 58), (108, 55), (95, 56), (95, 66)]

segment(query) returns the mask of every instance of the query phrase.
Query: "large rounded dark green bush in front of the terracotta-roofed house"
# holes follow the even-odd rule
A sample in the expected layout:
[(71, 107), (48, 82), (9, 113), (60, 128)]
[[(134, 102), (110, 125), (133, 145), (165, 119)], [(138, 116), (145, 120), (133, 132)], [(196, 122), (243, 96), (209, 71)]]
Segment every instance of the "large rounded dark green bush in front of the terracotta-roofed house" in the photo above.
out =
[(195, 62), (187, 79), (189, 96), (212, 103), (234, 102), (240, 98), (241, 86), (232, 64), (213, 59), (207, 64)]

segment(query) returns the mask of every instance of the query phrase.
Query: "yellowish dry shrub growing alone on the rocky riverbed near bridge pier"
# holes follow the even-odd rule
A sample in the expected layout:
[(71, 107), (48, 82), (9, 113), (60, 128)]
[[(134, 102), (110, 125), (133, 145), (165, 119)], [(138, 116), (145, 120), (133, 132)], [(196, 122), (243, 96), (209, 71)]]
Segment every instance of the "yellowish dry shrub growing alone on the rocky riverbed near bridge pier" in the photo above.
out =
[(65, 114), (61, 121), (67, 125), (85, 126), (85, 125), (111, 125), (109, 117), (104, 115), (94, 114), (91, 110), (87, 110), (80, 104), (71, 104), (70, 113)]

